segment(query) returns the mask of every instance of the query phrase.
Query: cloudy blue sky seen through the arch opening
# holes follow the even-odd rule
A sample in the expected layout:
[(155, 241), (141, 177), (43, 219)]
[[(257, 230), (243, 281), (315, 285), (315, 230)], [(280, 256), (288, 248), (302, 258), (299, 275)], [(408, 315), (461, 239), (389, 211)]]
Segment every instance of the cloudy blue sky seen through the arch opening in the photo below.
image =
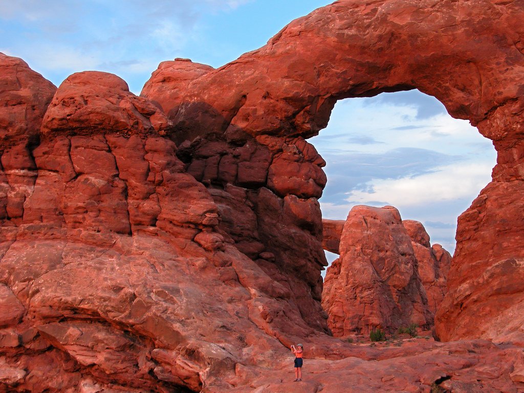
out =
[(356, 204), (390, 204), (403, 219), (427, 222), (432, 243), (453, 252), (457, 216), (491, 180), (495, 149), (436, 99), (396, 94), (338, 102), (309, 140), (327, 162), (322, 216), (343, 220)]

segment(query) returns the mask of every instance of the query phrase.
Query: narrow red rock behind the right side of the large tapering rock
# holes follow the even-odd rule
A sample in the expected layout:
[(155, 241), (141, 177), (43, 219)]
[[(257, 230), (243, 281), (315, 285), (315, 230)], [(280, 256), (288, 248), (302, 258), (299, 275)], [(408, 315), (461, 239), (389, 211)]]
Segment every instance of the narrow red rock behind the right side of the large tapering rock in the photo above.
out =
[(434, 315), (447, 292), (451, 255), (440, 244), (430, 244), (429, 235), (420, 222), (403, 220), (402, 225), (411, 238), (419, 277), (428, 298), (429, 310)]

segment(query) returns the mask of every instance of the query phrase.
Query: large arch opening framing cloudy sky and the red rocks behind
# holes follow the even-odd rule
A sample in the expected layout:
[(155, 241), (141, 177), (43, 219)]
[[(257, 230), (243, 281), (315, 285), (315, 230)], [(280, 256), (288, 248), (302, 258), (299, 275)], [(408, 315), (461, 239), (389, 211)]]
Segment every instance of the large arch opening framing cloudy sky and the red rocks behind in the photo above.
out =
[[(333, 335), (431, 329), (456, 219), (490, 180), (492, 144), (416, 90), (339, 101), (308, 141), (326, 161), (319, 202), (323, 246), (334, 254), (322, 305)], [(386, 205), (398, 211), (372, 207)]]

